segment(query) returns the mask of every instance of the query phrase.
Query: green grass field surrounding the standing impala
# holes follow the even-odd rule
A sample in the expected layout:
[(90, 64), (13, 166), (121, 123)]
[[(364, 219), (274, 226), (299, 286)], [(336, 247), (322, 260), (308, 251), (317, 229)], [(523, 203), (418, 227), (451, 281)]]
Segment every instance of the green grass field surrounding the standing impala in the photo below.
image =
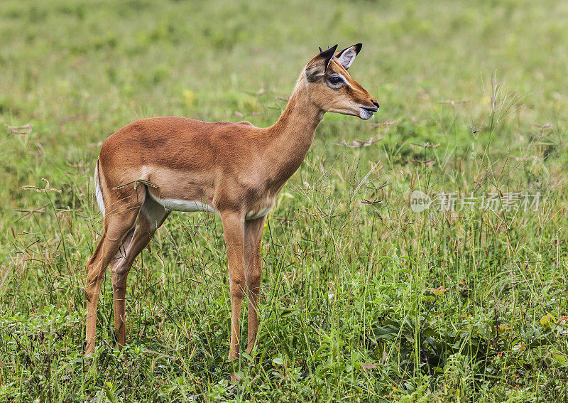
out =
[[(0, 401), (566, 402), (567, 26), (552, 0), (1, 1)], [(381, 111), (327, 114), (270, 213), (243, 380), (207, 214), (133, 266), (121, 351), (107, 276), (87, 369), (101, 142), (268, 126), (318, 45), (358, 42)]]

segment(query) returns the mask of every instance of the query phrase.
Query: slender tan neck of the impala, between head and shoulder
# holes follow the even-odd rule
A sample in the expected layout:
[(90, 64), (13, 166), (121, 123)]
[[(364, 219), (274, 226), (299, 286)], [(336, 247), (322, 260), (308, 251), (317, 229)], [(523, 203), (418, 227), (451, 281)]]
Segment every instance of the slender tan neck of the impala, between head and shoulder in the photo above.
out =
[(323, 117), (322, 109), (310, 100), (302, 72), (280, 119), (268, 128), (272, 134), (269, 147), (275, 164), (273, 168), (281, 173), (278, 181), (284, 183), (300, 167)]

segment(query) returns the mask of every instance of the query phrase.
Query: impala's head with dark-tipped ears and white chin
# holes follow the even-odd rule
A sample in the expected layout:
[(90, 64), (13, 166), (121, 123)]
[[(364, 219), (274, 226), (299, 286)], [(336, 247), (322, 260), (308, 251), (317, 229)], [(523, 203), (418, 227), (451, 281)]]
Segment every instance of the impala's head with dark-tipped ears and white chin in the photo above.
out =
[(363, 45), (357, 43), (336, 52), (337, 45), (307, 63), (304, 75), (310, 100), (323, 112), (337, 112), (370, 119), (378, 111), (378, 101), (359, 82), (351, 78), (347, 69)]

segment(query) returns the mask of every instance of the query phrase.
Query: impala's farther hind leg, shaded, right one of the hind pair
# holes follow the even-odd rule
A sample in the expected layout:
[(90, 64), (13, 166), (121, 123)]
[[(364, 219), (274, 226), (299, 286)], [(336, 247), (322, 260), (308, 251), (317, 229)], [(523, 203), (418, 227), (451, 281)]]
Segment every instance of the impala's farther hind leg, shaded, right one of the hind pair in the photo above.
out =
[(114, 328), (119, 348), (126, 344), (126, 330), (124, 328), (126, 280), (130, 269), (138, 254), (148, 245), (155, 230), (163, 224), (169, 211), (155, 203), (151, 198), (146, 198), (140, 214), (136, 219), (136, 225), (125, 238), (117, 252), (114, 262), (111, 262), (112, 291), (114, 296)]

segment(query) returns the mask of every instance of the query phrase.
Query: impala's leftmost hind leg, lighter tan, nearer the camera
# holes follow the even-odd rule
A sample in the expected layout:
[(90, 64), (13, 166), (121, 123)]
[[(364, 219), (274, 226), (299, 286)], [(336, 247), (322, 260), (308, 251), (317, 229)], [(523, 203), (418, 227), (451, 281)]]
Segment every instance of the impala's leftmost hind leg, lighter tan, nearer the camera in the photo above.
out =
[(137, 211), (126, 209), (120, 213), (107, 215), (104, 220), (104, 232), (94, 254), (87, 263), (87, 333), (85, 355), (94, 352), (97, 328), (97, 303), (107, 266), (121, 246), (124, 237), (134, 225)]

